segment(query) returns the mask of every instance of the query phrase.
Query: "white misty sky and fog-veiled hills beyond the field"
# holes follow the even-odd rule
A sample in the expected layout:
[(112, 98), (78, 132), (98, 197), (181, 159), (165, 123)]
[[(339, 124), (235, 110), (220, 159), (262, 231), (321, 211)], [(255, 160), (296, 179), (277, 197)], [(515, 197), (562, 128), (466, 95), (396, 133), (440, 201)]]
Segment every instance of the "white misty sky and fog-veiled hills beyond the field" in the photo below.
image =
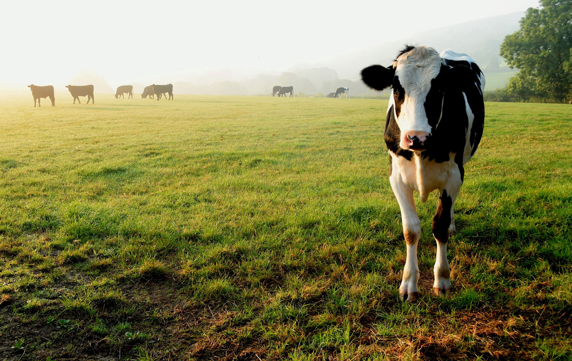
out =
[(293, 85), (315, 95), (348, 86), (379, 95), (359, 71), (386, 64), (404, 43), (472, 55), (488, 89), (513, 73), (498, 56), (536, 0), (479, 6), (442, 1), (288, 3), (45, 2), (3, 5), (0, 90), (92, 83), (98, 93), (173, 83), (174, 93), (268, 95)]

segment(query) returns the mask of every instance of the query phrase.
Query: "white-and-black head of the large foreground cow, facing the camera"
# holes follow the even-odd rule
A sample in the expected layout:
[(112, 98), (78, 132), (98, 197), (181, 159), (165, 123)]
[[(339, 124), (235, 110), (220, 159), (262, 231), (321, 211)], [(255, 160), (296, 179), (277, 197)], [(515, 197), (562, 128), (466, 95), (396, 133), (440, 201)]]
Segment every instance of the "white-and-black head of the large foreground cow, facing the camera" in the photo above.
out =
[(403, 149), (427, 149), (426, 142), (442, 114), (444, 64), (432, 47), (406, 46), (392, 65), (362, 70), (363, 82), (372, 89), (393, 88), (389, 109), (401, 131), (399, 146)]

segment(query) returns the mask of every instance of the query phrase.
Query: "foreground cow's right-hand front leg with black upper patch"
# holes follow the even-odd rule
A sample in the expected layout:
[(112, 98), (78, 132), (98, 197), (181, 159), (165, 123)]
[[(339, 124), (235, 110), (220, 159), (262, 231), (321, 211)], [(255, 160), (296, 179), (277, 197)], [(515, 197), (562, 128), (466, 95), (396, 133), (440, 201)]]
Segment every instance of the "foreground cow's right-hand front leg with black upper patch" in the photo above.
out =
[(453, 206), (462, 183), (460, 173), (454, 172), (449, 175), (445, 187), (439, 190), (439, 203), (437, 204), (437, 212), (433, 217), (433, 236), (437, 241), (437, 254), (433, 267), (435, 274), (433, 291), (439, 296), (451, 294), (451, 271), (447, 261), (447, 242), (451, 226), (455, 227), (452, 218)]

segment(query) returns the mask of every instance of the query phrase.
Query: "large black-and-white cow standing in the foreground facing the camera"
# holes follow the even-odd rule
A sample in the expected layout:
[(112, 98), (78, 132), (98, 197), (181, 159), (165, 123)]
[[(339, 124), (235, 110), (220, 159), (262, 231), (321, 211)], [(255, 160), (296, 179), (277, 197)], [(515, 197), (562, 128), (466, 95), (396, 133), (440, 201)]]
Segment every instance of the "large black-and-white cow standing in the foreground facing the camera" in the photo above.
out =
[(362, 79), (376, 90), (393, 88), (384, 139), (407, 244), (400, 298), (412, 301), (419, 292), (421, 223), (414, 191), (426, 202), (432, 191), (439, 190), (432, 223), (437, 242), (433, 289), (437, 295), (450, 294), (447, 240), (455, 232), (453, 205), (463, 183), (464, 164), (475, 154), (483, 134), (484, 74), (466, 54), (407, 46), (392, 65), (363, 69)]

